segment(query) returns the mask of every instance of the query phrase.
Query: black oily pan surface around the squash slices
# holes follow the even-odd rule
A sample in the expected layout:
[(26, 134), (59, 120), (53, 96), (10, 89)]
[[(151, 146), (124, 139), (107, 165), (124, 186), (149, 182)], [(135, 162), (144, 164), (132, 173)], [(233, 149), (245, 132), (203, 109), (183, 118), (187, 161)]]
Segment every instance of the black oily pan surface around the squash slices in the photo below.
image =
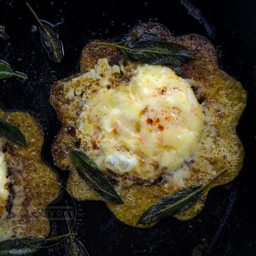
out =
[[(45, 157), (52, 162), (50, 147), (60, 128), (49, 103), (50, 89), (59, 79), (79, 70), (82, 48), (95, 39), (120, 38), (140, 22), (163, 23), (175, 35), (198, 33), (212, 40), (218, 50), (219, 65), (241, 81), (248, 102), (239, 126), (244, 145), (244, 166), (233, 182), (212, 189), (204, 210), (193, 220), (161, 220), (150, 229), (122, 224), (102, 202), (75, 202), (64, 192), (55, 203), (61, 209), (74, 209), (70, 215), (78, 238), (90, 256), (250, 256), (255, 255), (256, 221), (254, 195), (255, 104), (256, 99), (256, 3), (254, 0), (162, 1), (31, 1), (41, 19), (56, 24), (64, 44), (61, 64), (47, 57), (37, 25), (23, 1), (0, 0), (0, 25), (8, 40), (0, 38), (0, 59), (27, 74), (26, 82), (11, 78), (0, 81), (0, 100), (9, 109), (37, 113), (49, 133)], [(67, 180), (67, 173), (61, 173)], [(49, 207), (50, 208), (50, 207)], [(48, 215), (52, 213), (48, 212)], [(52, 235), (67, 232), (64, 221), (53, 213)], [(76, 220), (76, 221), (75, 221)], [(63, 256), (65, 243), (44, 248), (37, 256)]]

